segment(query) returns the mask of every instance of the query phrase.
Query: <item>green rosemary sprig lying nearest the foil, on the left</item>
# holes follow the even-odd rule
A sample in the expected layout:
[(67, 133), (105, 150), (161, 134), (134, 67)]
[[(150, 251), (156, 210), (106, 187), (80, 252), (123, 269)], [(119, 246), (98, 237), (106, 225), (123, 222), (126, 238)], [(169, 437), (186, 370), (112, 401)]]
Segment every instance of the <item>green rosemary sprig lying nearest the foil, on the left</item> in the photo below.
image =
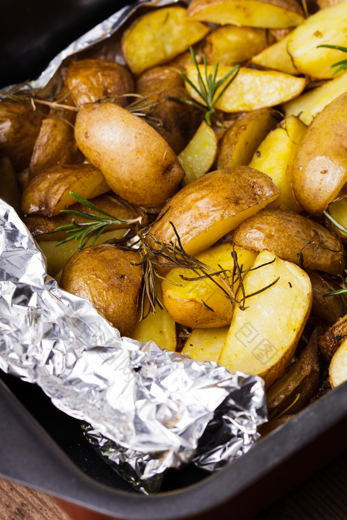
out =
[(67, 213), (75, 217), (84, 218), (86, 222), (76, 222), (76, 220), (73, 218), (71, 224), (59, 226), (56, 229), (54, 229), (52, 233), (55, 233), (56, 231), (65, 230), (68, 233), (68, 235), (70, 235), (65, 240), (61, 240), (60, 242), (58, 242), (57, 246), (69, 242), (70, 240), (80, 240), (79, 251), (81, 251), (81, 249), (84, 248), (84, 246), (89, 242), (89, 240), (92, 240), (90, 245), (94, 245), (101, 233), (104, 233), (110, 226), (118, 225), (120, 229), (129, 228), (132, 227), (135, 223), (140, 223), (142, 220), (142, 216), (130, 220), (124, 220), (122, 218), (115, 217), (114, 215), (111, 215), (110, 213), (101, 210), (92, 202), (89, 202), (88, 200), (84, 199), (74, 191), (70, 191), (70, 195), (77, 202), (80, 202), (84, 206), (88, 207), (90, 210), (96, 211), (98, 214), (76, 210), (60, 210), (60, 213)]

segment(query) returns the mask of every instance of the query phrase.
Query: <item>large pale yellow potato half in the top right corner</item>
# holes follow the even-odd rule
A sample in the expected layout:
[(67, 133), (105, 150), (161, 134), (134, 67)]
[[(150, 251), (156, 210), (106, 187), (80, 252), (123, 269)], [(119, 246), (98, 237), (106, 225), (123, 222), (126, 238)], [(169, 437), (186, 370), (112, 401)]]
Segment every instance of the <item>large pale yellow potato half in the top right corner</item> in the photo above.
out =
[[(317, 11), (295, 28), (288, 40), (294, 66), (317, 79), (331, 78), (331, 65), (345, 58), (341, 50), (318, 45), (346, 45), (347, 0)], [(338, 74), (341, 74), (339, 72)]]

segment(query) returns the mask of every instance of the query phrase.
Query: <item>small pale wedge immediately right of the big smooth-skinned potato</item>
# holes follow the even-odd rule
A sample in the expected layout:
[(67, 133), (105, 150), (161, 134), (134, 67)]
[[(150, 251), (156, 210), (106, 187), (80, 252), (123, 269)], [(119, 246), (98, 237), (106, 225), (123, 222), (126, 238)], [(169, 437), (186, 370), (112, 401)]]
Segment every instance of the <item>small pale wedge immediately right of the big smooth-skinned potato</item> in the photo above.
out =
[(184, 185), (208, 172), (217, 155), (218, 142), (215, 133), (203, 121), (188, 145), (177, 155), (179, 164), (185, 171)]

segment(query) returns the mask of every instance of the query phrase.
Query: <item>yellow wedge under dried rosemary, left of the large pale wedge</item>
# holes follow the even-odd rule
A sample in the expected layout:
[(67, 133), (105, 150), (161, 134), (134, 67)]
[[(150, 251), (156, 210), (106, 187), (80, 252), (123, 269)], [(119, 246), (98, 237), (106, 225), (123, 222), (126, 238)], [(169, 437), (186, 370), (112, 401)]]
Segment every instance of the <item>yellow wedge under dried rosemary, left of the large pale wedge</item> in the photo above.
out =
[[(250, 267), (257, 252), (236, 246), (239, 266), (243, 270)], [(213, 271), (220, 271), (221, 266), (227, 272), (233, 272), (234, 259), (232, 256), (232, 244), (216, 245), (213, 248), (197, 255), (197, 259), (211, 267)], [(213, 272), (206, 270), (210, 275)], [(232, 320), (234, 302), (230, 300), (228, 286), (218, 277), (204, 280), (184, 280), (181, 277), (195, 278), (202, 274), (200, 269), (197, 273), (191, 269), (177, 267), (170, 269), (161, 282), (162, 302), (169, 315), (181, 325), (191, 328), (213, 328), (223, 327)], [(219, 284), (219, 285), (217, 285)], [(221, 289), (227, 291), (227, 294)], [(238, 282), (235, 280), (234, 291), (237, 290)]]

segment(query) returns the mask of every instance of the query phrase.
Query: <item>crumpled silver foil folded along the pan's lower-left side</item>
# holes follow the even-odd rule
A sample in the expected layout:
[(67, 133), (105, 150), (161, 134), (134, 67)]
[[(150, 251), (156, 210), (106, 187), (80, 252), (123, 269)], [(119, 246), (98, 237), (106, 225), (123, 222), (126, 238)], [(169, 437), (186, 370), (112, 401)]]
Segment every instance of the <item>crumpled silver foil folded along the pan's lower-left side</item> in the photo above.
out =
[(143, 492), (169, 467), (215, 470), (266, 421), (263, 381), (121, 337), (86, 300), (47, 280), (44, 258), (0, 200), (0, 368), (37, 383)]

